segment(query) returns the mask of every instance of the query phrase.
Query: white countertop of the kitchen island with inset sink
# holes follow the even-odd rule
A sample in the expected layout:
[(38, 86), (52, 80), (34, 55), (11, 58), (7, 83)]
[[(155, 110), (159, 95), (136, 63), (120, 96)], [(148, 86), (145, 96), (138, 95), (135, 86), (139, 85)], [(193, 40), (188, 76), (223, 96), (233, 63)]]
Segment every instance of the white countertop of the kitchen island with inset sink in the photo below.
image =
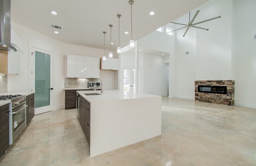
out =
[(79, 95), (84, 97), (87, 101), (107, 101), (107, 100), (123, 100), (123, 99), (140, 99), (148, 97), (156, 97), (156, 95), (149, 95), (143, 93), (124, 92), (118, 90), (106, 90), (101, 95), (85, 95), (84, 93), (99, 93), (100, 90), (96, 91), (77, 91)]

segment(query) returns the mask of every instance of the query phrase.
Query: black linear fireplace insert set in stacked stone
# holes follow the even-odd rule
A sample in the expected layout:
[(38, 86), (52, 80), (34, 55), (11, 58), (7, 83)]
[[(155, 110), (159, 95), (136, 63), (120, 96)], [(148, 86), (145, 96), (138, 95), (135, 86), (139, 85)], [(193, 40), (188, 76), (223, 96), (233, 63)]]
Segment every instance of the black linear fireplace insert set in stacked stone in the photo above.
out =
[(227, 94), (227, 87), (198, 85), (198, 92)]

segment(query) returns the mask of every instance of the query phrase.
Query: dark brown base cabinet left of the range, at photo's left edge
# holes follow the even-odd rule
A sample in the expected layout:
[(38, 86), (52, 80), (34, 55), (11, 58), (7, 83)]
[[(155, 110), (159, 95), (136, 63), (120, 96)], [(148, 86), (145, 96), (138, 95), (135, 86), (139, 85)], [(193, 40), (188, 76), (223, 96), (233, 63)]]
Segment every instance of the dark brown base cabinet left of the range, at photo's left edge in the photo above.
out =
[(0, 107), (0, 157), (9, 148), (9, 104)]

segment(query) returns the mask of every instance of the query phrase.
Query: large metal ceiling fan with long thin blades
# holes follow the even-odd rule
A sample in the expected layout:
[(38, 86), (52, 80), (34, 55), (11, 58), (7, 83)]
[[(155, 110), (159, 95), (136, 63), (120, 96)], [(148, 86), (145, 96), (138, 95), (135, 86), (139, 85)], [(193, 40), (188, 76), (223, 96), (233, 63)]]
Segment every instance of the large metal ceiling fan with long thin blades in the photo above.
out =
[[(184, 35), (183, 35), (183, 36), (185, 36), (186, 33), (188, 32), (188, 29), (189, 29), (190, 27), (198, 28), (198, 29), (201, 29), (201, 30), (207, 30), (207, 31), (208, 31), (209, 29), (207, 29), (207, 28), (202, 28), (202, 27), (198, 27), (198, 26), (195, 26), (195, 25), (200, 24), (200, 23), (203, 23), (203, 22), (207, 22), (207, 21), (210, 21), (210, 20), (214, 20), (214, 19), (216, 19), (216, 18), (220, 18), (220, 16), (218, 16), (218, 17), (210, 18), (210, 19), (208, 19), (208, 20), (204, 20), (204, 21), (201, 21), (201, 22), (198, 22), (198, 23), (193, 24), (193, 22), (194, 22), (194, 20), (195, 20), (195, 18), (196, 18), (196, 16), (198, 15), (199, 12), (200, 12), (200, 10), (197, 10), (197, 11), (196, 11), (196, 14), (194, 15), (194, 17), (192, 18), (191, 21), (190, 21), (190, 12), (189, 12), (189, 22), (188, 22), (188, 24), (180, 24), (180, 23), (176, 23), (176, 22), (171, 22), (171, 23), (184, 25), (185, 27), (182, 27), (182, 28), (186, 28), (186, 27), (187, 27), (187, 30), (186, 30), (186, 32), (185, 32)], [(182, 29), (182, 28), (179, 28), (179, 29), (177, 29), (177, 30), (180, 30), (180, 29)], [(171, 32), (174, 32), (174, 31), (176, 31), (176, 30), (173, 30), (173, 31), (171, 31)], [(166, 34), (168, 34), (168, 33), (170, 33), (170, 32), (167, 32)]]

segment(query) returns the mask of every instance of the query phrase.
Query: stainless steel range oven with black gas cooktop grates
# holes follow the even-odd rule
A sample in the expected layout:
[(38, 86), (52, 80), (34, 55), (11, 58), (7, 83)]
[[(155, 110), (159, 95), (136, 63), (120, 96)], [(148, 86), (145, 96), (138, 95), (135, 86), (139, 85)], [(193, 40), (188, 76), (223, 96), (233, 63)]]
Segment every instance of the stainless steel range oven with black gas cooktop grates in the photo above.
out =
[(12, 144), (14, 140), (22, 133), (26, 128), (26, 96), (25, 95), (1, 95), (0, 100), (11, 100), (12, 111), (10, 111), (9, 118), (9, 144)]

